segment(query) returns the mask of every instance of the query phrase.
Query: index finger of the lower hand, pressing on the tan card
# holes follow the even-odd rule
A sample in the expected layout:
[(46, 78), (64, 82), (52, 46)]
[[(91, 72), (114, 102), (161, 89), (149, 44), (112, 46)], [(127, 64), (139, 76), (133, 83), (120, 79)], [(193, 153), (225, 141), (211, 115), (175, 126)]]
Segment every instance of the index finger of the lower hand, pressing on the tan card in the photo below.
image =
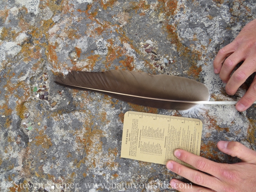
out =
[(221, 164), (216, 163), (211, 160), (208, 160), (201, 156), (192, 154), (192, 153), (187, 152), (182, 149), (175, 150), (174, 155), (178, 159), (184, 161), (187, 164), (190, 164), (194, 168), (196, 168), (200, 171), (206, 172), (208, 174), (211, 174), (212, 176), (215, 176), (216, 178), (219, 178), (220, 169), (222, 168)]

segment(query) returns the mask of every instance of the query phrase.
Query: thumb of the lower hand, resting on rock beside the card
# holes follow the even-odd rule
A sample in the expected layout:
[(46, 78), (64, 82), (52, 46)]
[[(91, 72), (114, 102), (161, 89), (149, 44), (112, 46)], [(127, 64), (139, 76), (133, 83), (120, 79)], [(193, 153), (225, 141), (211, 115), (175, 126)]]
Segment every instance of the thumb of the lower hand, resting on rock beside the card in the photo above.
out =
[(219, 150), (232, 157), (238, 157), (243, 162), (256, 164), (256, 152), (234, 141), (219, 141), (217, 144)]

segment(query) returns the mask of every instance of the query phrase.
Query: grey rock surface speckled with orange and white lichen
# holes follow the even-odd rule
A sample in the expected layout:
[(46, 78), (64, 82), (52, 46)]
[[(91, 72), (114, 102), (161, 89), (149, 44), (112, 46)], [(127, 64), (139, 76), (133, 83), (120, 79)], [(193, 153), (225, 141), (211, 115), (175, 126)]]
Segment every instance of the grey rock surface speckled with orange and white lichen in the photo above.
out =
[[(0, 190), (172, 190), (170, 179), (184, 178), (164, 165), (120, 158), (123, 118), (186, 114), (64, 88), (54, 73), (170, 74), (204, 83), (210, 100), (238, 100), (252, 78), (227, 96), (212, 62), (255, 16), (251, 0), (1, 0)], [(201, 156), (237, 162), (219, 140), (256, 149), (255, 106), (207, 107)]]

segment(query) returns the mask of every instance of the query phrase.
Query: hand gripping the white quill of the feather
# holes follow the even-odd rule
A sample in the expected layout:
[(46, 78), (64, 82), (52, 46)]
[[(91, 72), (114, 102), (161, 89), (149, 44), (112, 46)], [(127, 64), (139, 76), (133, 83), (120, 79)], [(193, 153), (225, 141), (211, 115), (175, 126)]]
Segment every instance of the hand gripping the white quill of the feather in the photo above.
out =
[[(243, 64), (232, 74), (236, 65)], [(223, 64), (223, 65), (222, 65)], [(256, 20), (249, 22), (233, 42), (219, 50), (213, 61), (214, 72), (226, 83), (226, 93), (234, 95), (246, 79), (256, 72)], [(245, 111), (256, 100), (256, 78), (246, 94), (237, 102), (236, 109)]]

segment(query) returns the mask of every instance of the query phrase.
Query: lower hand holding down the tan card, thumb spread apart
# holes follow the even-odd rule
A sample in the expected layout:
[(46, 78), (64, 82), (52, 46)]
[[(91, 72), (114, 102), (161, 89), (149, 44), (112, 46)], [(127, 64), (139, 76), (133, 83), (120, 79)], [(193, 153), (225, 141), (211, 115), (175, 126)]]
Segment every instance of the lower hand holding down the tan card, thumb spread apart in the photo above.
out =
[[(256, 152), (239, 142), (219, 141), (217, 146), (220, 151), (233, 157), (238, 157), (242, 162), (235, 164), (216, 163), (185, 150), (177, 149), (174, 151), (174, 155), (178, 159), (202, 172), (183, 166), (175, 161), (168, 161), (166, 167), (169, 170), (200, 185), (190, 185), (188, 187), (188, 184), (185, 185), (184, 182), (172, 179), (170, 181), (172, 188), (181, 192), (212, 192), (212, 190), (216, 192), (255, 191)], [(211, 176), (203, 172), (211, 174)], [(184, 186), (187, 187), (184, 188)]]

